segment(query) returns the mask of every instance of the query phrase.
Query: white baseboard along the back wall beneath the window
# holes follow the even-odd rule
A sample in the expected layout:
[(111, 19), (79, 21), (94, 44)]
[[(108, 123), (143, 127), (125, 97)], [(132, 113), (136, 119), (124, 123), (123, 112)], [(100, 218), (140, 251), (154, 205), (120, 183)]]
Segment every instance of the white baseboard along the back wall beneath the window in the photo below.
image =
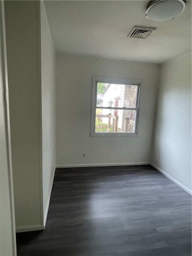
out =
[(121, 165), (147, 165), (150, 162), (133, 162), (133, 163), (104, 163), (104, 164), (60, 164), (56, 168), (70, 168), (70, 167), (95, 167), (95, 166), (121, 166)]

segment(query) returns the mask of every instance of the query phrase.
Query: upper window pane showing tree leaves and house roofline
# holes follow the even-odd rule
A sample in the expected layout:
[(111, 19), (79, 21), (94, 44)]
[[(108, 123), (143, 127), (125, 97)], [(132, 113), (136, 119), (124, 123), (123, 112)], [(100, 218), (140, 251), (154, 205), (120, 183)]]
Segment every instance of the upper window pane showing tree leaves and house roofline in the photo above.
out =
[(135, 108), (137, 87), (136, 85), (97, 83), (97, 106)]

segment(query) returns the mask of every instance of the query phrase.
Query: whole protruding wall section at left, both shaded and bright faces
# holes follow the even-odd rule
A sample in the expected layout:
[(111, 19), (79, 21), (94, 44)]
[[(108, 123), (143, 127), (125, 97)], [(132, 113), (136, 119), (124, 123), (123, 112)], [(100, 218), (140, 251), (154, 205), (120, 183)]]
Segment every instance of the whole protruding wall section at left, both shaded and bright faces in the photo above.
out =
[(55, 52), (42, 1), (6, 1), (17, 231), (44, 229), (55, 171)]

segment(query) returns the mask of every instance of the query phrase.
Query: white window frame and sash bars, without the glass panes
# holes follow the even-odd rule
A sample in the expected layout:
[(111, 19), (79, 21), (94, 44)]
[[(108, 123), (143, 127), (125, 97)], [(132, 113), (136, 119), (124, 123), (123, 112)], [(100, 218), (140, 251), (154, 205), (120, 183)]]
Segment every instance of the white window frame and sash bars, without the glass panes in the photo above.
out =
[[(129, 78), (117, 78), (117, 77), (106, 77), (106, 76), (93, 76), (92, 79), (92, 104), (91, 104), (91, 137), (138, 137), (138, 121), (139, 121), (139, 105), (141, 96), (141, 84), (142, 79), (129, 79)], [(128, 109), (136, 110), (135, 117), (135, 132), (95, 132), (95, 116), (97, 107), (97, 83), (107, 83), (107, 84), (123, 84), (123, 85), (137, 85), (137, 99), (135, 108), (117, 108), (117, 107), (102, 107), (103, 109)]]

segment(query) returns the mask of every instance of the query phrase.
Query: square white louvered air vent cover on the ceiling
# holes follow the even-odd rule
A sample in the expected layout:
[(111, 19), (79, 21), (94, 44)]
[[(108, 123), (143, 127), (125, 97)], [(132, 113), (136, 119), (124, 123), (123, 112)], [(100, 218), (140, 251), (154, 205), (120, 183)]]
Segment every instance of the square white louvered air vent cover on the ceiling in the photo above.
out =
[(134, 38), (146, 38), (148, 37), (156, 28), (138, 27), (134, 26), (127, 37)]

